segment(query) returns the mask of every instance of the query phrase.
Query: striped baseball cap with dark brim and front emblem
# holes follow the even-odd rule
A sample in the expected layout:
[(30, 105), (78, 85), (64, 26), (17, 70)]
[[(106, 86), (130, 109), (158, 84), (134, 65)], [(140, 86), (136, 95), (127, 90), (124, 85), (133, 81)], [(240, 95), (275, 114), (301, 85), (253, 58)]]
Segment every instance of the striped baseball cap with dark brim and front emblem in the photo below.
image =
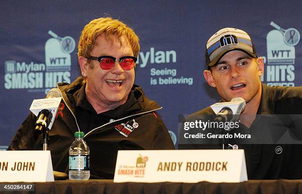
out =
[(230, 50), (242, 50), (256, 58), (257, 53), (251, 37), (243, 30), (223, 28), (216, 32), (207, 42), (206, 62), (214, 66)]

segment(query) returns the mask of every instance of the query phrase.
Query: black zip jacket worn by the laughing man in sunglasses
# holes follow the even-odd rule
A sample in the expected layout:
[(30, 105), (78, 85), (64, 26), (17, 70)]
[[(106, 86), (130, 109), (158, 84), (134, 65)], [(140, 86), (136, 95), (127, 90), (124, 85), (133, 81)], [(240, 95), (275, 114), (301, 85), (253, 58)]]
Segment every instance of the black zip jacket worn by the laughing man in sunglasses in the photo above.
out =
[[(59, 83), (58, 88), (63, 99), (49, 131), (48, 145), (53, 170), (68, 173), (69, 147), (76, 131), (85, 132), (84, 140), (90, 148), (90, 174), (105, 179), (113, 179), (120, 149), (174, 149), (168, 130), (154, 112), (162, 107), (148, 99), (138, 86), (132, 87), (126, 103), (101, 114), (87, 101), (82, 77), (72, 84)], [(37, 138), (33, 133), (36, 119), (32, 113), (27, 117), (8, 150), (42, 149), (41, 135)]]

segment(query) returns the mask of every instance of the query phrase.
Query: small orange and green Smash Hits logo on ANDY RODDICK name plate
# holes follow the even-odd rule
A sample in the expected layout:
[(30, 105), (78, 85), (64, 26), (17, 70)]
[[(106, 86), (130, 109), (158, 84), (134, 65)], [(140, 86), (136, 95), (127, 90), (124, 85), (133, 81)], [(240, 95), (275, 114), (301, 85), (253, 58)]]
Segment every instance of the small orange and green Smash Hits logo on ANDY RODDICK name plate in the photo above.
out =
[(143, 178), (145, 176), (145, 167), (148, 160), (148, 156), (139, 154), (139, 157), (136, 159), (136, 165), (119, 165), (117, 174)]

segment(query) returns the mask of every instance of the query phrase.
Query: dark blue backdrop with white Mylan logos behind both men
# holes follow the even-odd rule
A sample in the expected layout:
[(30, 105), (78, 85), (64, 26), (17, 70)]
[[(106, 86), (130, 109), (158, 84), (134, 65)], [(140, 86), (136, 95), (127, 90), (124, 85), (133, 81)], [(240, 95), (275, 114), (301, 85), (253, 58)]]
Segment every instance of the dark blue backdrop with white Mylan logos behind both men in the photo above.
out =
[[(301, 0), (4, 0), (0, 6), (0, 149), (57, 82), (80, 75), (77, 44), (88, 21), (112, 16), (140, 37), (135, 84), (177, 144), (178, 115), (219, 100), (204, 78), (205, 44), (221, 28), (248, 32), (264, 58), (268, 85), (302, 85)], [(106, 14), (104, 14), (106, 13)]]

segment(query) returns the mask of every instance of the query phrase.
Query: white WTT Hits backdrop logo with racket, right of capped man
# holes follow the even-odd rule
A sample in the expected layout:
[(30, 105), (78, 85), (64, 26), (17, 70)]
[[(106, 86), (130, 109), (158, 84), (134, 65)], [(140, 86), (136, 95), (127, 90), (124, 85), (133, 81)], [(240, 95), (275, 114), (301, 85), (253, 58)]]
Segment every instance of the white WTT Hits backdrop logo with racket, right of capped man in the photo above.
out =
[(295, 28), (283, 29), (274, 22), (270, 25), (274, 29), (266, 35), (266, 83), (268, 86), (295, 86), (295, 46), (300, 41), (300, 33)]

